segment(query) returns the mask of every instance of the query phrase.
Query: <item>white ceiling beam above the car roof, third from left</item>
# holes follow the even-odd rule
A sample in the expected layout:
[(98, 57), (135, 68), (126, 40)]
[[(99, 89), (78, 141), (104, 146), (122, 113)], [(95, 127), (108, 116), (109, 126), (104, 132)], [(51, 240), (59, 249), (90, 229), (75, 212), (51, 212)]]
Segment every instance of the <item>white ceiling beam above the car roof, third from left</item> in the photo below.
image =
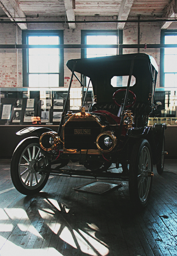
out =
[[(129, 16), (129, 12), (134, 0), (122, 0), (119, 12), (118, 12), (118, 20), (127, 20)], [(118, 23), (117, 29), (123, 29), (125, 23)]]

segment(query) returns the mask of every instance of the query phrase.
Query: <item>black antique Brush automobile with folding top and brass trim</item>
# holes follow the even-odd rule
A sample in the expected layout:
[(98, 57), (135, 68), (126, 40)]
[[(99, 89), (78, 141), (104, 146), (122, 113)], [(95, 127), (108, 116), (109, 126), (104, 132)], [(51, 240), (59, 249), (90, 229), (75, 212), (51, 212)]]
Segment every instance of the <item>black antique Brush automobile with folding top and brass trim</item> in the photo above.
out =
[[(162, 174), (165, 154), (166, 125), (147, 126), (155, 107), (158, 68), (154, 58), (144, 53), (124, 54), (69, 60), (66, 65), (72, 76), (58, 133), (46, 127), (18, 131), (17, 135), (36, 133), (38, 137), (23, 139), (13, 153), (14, 186), (22, 194), (35, 194), (45, 186), (49, 174), (129, 180), (131, 201), (146, 206), (153, 164)], [(73, 76), (78, 79), (74, 72), (90, 78), (94, 103), (86, 112), (84, 99), (81, 112), (65, 115)], [(68, 168), (69, 160), (83, 168)]]

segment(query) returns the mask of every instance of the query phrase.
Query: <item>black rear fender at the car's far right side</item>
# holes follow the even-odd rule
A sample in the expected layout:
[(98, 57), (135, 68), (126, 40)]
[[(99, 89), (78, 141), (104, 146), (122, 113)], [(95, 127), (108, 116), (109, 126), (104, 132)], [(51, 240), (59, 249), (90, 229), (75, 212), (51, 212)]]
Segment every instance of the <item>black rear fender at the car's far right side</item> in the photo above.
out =
[(152, 127), (152, 132), (153, 132), (154, 141), (155, 141), (157, 162), (161, 158), (164, 133), (166, 129), (167, 129), (166, 123), (155, 123)]

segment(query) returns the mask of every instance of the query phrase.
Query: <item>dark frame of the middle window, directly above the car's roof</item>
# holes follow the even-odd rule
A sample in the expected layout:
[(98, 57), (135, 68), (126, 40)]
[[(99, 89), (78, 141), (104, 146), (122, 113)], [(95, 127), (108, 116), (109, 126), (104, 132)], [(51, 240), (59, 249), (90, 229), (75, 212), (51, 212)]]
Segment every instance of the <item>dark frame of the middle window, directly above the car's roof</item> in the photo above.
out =
[[(118, 36), (119, 44), (123, 43), (123, 30), (100, 29), (100, 30), (81, 30), (81, 44), (86, 44), (86, 36)], [(122, 54), (122, 48), (118, 49), (119, 55)], [(81, 58), (86, 58), (86, 48), (81, 49)]]

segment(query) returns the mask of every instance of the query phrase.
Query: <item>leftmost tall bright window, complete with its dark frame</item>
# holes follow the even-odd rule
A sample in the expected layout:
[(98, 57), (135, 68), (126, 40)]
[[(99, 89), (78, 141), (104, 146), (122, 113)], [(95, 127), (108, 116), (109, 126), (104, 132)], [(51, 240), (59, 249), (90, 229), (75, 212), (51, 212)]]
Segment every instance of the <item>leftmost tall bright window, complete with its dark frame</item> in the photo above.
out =
[(23, 49), (23, 86), (63, 86), (63, 50), (47, 45), (63, 44), (63, 31), (22, 31), (22, 44), (46, 45)]

